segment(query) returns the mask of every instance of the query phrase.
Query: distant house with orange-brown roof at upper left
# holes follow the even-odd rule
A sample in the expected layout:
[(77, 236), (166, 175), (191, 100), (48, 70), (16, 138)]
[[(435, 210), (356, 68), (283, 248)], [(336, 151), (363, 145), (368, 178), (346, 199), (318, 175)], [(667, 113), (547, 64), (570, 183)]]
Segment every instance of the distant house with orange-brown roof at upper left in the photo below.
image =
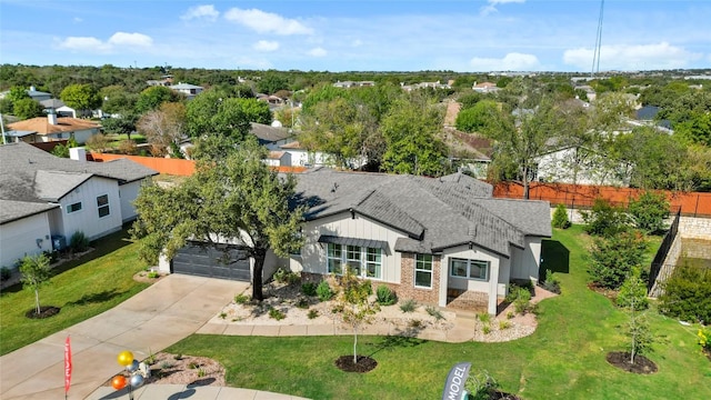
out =
[(26, 142), (49, 142), (73, 137), (79, 144), (99, 133), (100, 128), (100, 124), (89, 120), (69, 117), (57, 118), (57, 114), (53, 113), (8, 124), (9, 130), (34, 132), (18, 137), (19, 140)]

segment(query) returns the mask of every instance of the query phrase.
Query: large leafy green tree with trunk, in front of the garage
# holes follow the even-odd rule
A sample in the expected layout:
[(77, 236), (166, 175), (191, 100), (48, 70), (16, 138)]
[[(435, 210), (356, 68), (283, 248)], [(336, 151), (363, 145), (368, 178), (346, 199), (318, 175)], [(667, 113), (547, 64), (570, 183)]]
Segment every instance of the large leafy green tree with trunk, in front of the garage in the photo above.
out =
[(216, 246), (236, 238), (254, 259), (252, 298), (262, 300), (262, 271), (268, 250), (280, 257), (302, 246), (304, 210), (290, 208), (292, 176), (281, 179), (262, 162), (266, 150), (256, 140), (238, 146), (223, 162), (198, 163), (197, 172), (173, 188), (144, 187), (136, 200), (140, 257), (156, 263), (161, 252), (172, 258), (188, 239)]

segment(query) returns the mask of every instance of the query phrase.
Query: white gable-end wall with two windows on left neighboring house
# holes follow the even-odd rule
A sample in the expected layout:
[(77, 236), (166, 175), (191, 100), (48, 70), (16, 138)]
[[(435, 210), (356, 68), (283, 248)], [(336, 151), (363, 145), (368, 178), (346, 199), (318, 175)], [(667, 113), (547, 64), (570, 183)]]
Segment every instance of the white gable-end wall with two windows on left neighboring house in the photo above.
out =
[[(99, 217), (97, 198), (104, 194), (109, 198), (109, 214)], [(79, 202), (81, 202), (80, 210), (68, 212), (71, 204)], [(71, 236), (77, 231), (82, 231), (89, 240), (94, 240), (121, 229), (121, 202), (116, 180), (91, 177), (61, 198), (59, 204), (63, 218), (61, 218), (61, 226), (52, 227), (58, 229), (52, 234), (64, 236), (68, 243)], [(59, 219), (54, 219), (54, 221), (57, 220)]]

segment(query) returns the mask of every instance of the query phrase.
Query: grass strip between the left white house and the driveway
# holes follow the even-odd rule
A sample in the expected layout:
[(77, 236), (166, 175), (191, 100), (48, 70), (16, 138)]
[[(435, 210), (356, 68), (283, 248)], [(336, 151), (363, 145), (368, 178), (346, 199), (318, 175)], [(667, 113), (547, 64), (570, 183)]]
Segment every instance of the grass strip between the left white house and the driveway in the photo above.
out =
[(50, 282), (40, 288), (40, 304), (60, 307), (58, 314), (29, 319), (24, 314), (34, 308), (34, 292), (19, 284), (2, 291), (0, 354), (109, 310), (148, 286), (133, 280), (146, 264), (138, 260), (138, 244), (126, 230), (91, 246), (94, 251), (56, 268)]

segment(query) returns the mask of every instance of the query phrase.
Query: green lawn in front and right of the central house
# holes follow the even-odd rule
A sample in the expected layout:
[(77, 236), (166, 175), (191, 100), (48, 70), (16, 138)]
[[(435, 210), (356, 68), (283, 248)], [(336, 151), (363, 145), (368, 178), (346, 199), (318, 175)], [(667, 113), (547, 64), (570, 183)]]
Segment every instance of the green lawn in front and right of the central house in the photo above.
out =
[[(624, 347), (618, 327), (625, 314), (587, 288), (590, 242), (580, 226), (555, 230), (544, 241), (543, 269), (558, 272), (562, 294), (542, 301), (537, 331), (512, 342), (362, 337), (359, 353), (378, 361), (363, 374), (342, 372), (333, 363), (352, 351), (350, 336), (193, 334), (166, 351), (220, 361), (232, 387), (311, 399), (439, 399), (449, 369), (460, 361), (489, 371), (503, 390), (523, 399), (711, 399), (711, 363), (697, 344), (695, 329), (655, 312), (650, 319), (659, 342), (648, 357), (659, 372), (629, 373), (605, 361), (609, 351)], [(652, 256), (655, 246), (650, 246)]]

